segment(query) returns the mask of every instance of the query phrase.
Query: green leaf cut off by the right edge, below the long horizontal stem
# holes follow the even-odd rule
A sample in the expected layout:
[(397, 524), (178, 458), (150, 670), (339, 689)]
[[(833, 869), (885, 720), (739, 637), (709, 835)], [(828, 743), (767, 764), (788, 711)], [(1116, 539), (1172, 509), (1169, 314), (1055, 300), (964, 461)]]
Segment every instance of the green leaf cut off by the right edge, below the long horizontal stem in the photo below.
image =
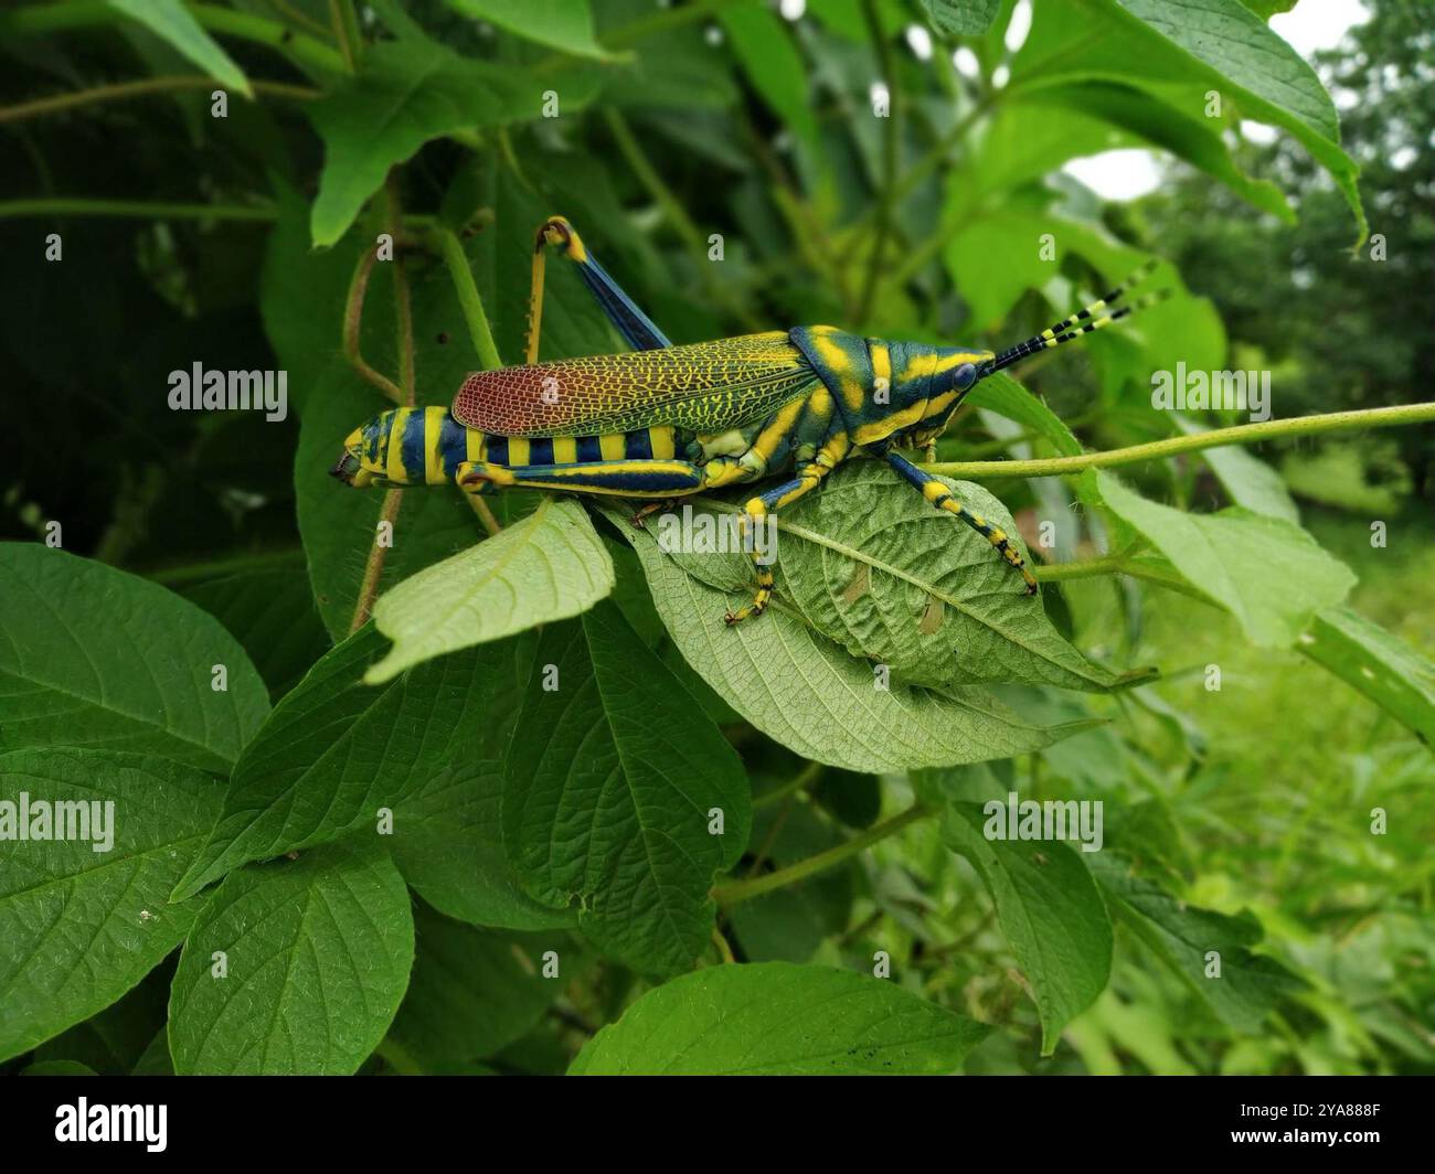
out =
[(1320, 611), (1300, 650), (1435, 746), (1435, 663), (1349, 607)]

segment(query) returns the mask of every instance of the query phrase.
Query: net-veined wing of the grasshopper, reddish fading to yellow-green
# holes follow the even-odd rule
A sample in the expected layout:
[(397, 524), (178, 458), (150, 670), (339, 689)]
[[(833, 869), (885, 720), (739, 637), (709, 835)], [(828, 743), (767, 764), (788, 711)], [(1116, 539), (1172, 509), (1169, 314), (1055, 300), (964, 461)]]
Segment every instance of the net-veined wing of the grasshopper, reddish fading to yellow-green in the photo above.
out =
[(818, 383), (786, 332), (475, 372), (453, 398), (465, 428), (583, 436), (669, 425), (723, 432), (763, 419)]

